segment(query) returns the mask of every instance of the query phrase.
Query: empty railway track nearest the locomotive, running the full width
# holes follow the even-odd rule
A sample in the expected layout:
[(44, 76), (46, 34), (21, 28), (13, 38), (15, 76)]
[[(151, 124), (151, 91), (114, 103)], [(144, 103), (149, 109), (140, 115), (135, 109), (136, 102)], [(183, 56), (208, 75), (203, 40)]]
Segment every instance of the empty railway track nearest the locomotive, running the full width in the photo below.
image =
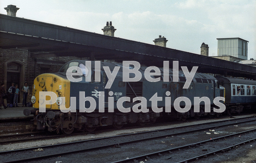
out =
[[(97, 138), (97, 139), (84, 140), (84, 141), (76, 141), (76, 142), (70, 142), (70, 143), (62, 143), (62, 144), (57, 144), (57, 145), (25, 148), (25, 149), (11, 150), (11, 151), (2, 151), (2, 152), (0, 152), (0, 156), (1, 156), (0, 161), (7, 160), (5, 162), (12, 162), (12, 161), (32, 161), (33, 160), (33, 162), (34, 162), (38, 159), (46, 159), (46, 158), (48, 159), (49, 157), (56, 158), (58, 156), (64, 156), (62, 158), (65, 158), (65, 156), (67, 156), (67, 155), (76, 155), (77, 153), (80, 153), (80, 152), (86, 152), (87, 159), (89, 159), (90, 156), (93, 157), (93, 155), (94, 155), (94, 157), (95, 157), (95, 153), (102, 152), (102, 150), (108, 151), (109, 149), (113, 149), (114, 147), (122, 146), (122, 151), (123, 151), (123, 149), (127, 149), (127, 147), (125, 147), (125, 146), (134, 145), (135, 143), (137, 143), (137, 145), (148, 146), (149, 144), (150, 145), (152, 144), (152, 141), (157, 141), (158, 143), (159, 143), (159, 141), (161, 142), (161, 140), (162, 140), (162, 142), (165, 142), (165, 141), (168, 142), (167, 140), (169, 140), (170, 138), (173, 138), (173, 137), (174, 138), (180, 138), (180, 137), (186, 138), (187, 135), (193, 136), (193, 134), (195, 132), (203, 132), (205, 130), (209, 130), (209, 129), (213, 129), (213, 128), (218, 128), (218, 129), (223, 128), (223, 127), (229, 128), (230, 126), (233, 126), (233, 128), (234, 128), (234, 126), (237, 126), (238, 124), (240, 124), (240, 125), (246, 124), (246, 126), (248, 126), (248, 124), (252, 123), (255, 127), (255, 120), (256, 120), (255, 117), (251, 117), (251, 118), (247, 118), (247, 119), (240, 118), (240, 119), (232, 119), (232, 120), (226, 120), (226, 121), (221, 121), (221, 122), (211, 122), (211, 123), (205, 123), (205, 124), (199, 124), (199, 125), (189, 125), (189, 126), (183, 126), (183, 127), (179, 127), (179, 128), (168, 128), (168, 129), (161, 129), (161, 130), (156, 130), (156, 131), (144, 131), (144, 132), (140, 132), (140, 133), (118, 135), (118, 136)], [(251, 130), (251, 131), (253, 131), (253, 130)], [(213, 137), (217, 138), (216, 135), (217, 134), (212, 135), (212, 138)], [(227, 134), (225, 135), (224, 133), (222, 133), (220, 135), (227, 136)], [(160, 143), (161, 149), (162, 149), (162, 144), (163, 144), (162, 142)], [(181, 148), (182, 146), (178, 146), (178, 147)], [(178, 147), (176, 147), (176, 148), (178, 148)], [(44, 151), (37, 152), (36, 153), (37, 157), (32, 157), (35, 155), (35, 153), (33, 153), (33, 150), (36, 150), (39, 148), (44, 149)], [(72, 148), (75, 148), (75, 150), (72, 150)], [(115, 148), (115, 149), (118, 149), (118, 148)], [(55, 151), (55, 153), (53, 151)], [(58, 151), (58, 152), (56, 152), (56, 151)], [(126, 150), (124, 150), (124, 151), (126, 151)], [(147, 150), (145, 150), (145, 152), (146, 151)], [(114, 150), (114, 153), (116, 153), (115, 150)], [(120, 151), (118, 151), (118, 153), (120, 154)], [(19, 160), (10, 160), (10, 158), (12, 158), (10, 156), (12, 156), (12, 155), (15, 155), (16, 158), (20, 158), (20, 159)], [(106, 156), (109, 156), (109, 154)], [(79, 156), (77, 156), (77, 157), (79, 157)], [(102, 157), (104, 157), (104, 156), (102, 155)], [(74, 158), (76, 158), (76, 157), (74, 157)], [(112, 159), (110, 158), (110, 160), (112, 160)], [(105, 160), (104, 162), (111, 162), (110, 160), (107, 160), (107, 161)], [(84, 160), (84, 161), (92, 161), (92, 160)], [(101, 160), (101, 161), (103, 161), (103, 160)], [(129, 161), (129, 160), (127, 160), (127, 161)]]

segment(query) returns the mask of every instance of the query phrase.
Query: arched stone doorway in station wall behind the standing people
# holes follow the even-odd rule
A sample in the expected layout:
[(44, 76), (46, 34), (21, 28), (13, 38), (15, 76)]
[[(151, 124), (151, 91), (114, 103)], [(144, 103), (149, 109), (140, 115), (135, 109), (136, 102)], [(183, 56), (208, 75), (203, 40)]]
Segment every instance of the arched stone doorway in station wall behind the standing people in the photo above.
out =
[[(17, 61), (9, 61), (6, 63), (6, 91), (8, 92), (8, 89), (14, 83), (15, 85), (18, 85), (18, 88), (22, 89), (22, 86), (24, 84), (24, 66), (23, 63), (17, 62)], [(22, 84), (23, 83), (23, 84)], [(14, 85), (14, 86), (15, 86)], [(20, 92), (18, 103), (22, 100), (22, 93)], [(7, 103), (13, 103), (11, 102), (11, 98), (7, 99)]]

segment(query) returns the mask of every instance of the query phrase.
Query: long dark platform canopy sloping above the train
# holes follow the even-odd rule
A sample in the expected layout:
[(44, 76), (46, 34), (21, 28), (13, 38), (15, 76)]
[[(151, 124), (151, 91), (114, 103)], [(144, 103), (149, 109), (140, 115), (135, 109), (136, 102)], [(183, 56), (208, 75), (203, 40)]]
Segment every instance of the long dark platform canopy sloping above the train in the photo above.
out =
[(101, 35), (59, 25), (0, 14), (0, 48), (27, 49), (32, 58), (53, 56), (90, 57), (117, 62), (138, 61), (158, 67), (163, 61), (179, 61), (180, 66), (199, 66), (198, 72), (256, 80), (256, 67), (176, 49)]

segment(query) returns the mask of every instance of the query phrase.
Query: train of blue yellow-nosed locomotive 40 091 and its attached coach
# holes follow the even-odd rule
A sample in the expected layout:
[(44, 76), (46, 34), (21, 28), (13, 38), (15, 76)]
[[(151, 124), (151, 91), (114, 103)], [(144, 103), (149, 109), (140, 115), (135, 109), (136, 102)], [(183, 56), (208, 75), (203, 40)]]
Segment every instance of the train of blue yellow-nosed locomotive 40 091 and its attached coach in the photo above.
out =
[[(214, 111), (214, 109), (220, 108), (220, 105), (216, 106), (214, 102), (216, 97), (226, 97), (226, 101), (219, 101), (219, 104), (226, 105), (228, 114), (240, 112), (244, 107), (255, 107), (256, 81), (226, 77), (215, 78), (212, 75), (196, 73), (189, 88), (183, 89), (186, 77), (182, 71), (178, 71), (176, 74), (179, 81), (173, 81), (173, 75), (177, 72), (169, 69), (169, 82), (165, 82), (163, 81), (164, 70), (159, 68), (160, 72), (157, 75), (151, 75), (151, 78), (159, 81), (151, 82), (146, 80), (144, 75), (146, 67), (140, 67), (138, 71), (142, 74), (141, 78), (134, 82), (123, 80), (123, 71), (126, 67), (123, 67), (122, 64), (97, 62), (100, 66), (98, 69), (95, 68), (95, 64), (96, 62), (91, 61), (91, 66), (88, 68), (85, 61), (72, 60), (63, 65), (57, 73), (45, 73), (37, 76), (34, 79), (31, 98), (35, 109), (25, 109), (24, 115), (34, 115), (34, 125), (38, 130), (48, 128), (48, 131), (59, 132), (61, 130), (65, 134), (70, 134), (74, 129), (94, 131), (98, 126), (106, 125), (113, 125), (115, 128), (121, 128), (127, 123), (145, 125), (163, 116), (182, 120), (187, 117), (199, 118), (204, 115), (218, 116), (221, 113)], [(78, 73), (78, 70), (71, 69), (73, 73), (77, 73), (72, 77), (74, 80), (79, 79), (77, 81), (72, 81), (67, 76), (67, 71), (73, 66), (78, 67), (82, 72), (81, 74), (81, 72)], [(119, 67), (114, 80), (110, 79), (112, 86), (109, 88), (106, 88), (109, 81), (109, 74), (106, 74), (105, 71), (107, 67), (112, 75), (115, 67)], [(129, 67), (129, 69), (133, 69), (133, 67)], [(97, 79), (97, 75), (100, 76), (100, 80)], [(87, 80), (88, 76), (91, 81)], [(134, 74), (129, 74), (129, 78), (133, 77)], [(241, 87), (239, 94), (237, 94), (238, 85)], [(248, 86), (250, 89), (247, 89)], [(250, 93), (247, 93), (247, 90)], [(45, 96), (41, 100), (40, 98), (43, 97), (40, 92), (52, 92), (57, 97), (56, 102), (52, 102), (49, 96)], [(180, 97), (188, 99), (189, 102), (178, 100)], [(205, 111), (206, 102), (199, 101), (199, 105), (198, 101), (194, 101), (195, 97), (207, 97), (209, 100), (207, 101), (208, 111)], [(71, 98), (73, 98), (73, 102)], [(52, 103), (45, 105), (45, 112), (40, 112), (39, 108), (45, 101)], [(196, 104), (197, 107), (195, 107)], [(68, 111), (61, 111), (60, 106), (62, 105), (68, 108)], [(93, 105), (95, 107), (90, 110)], [(184, 112), (177, 111), (174, 105), (179, 105), (180, 109), (187, 107), (189, 109)], [(118, 106), (125, 111), (119, 109)], [(72, 109), (69, 111), (69, 108), (72, 107), (75, 108), (75, 111)], [(197, 111), (194, 111), (195, 108)]]

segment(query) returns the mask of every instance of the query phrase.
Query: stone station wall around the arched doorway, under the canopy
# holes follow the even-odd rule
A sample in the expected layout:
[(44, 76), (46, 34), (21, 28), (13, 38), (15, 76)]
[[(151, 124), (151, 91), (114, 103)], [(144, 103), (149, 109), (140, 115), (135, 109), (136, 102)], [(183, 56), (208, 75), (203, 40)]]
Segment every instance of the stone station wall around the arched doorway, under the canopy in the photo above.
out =
[[(37, 58), (48, 61), (59, 61), (61, 63), (66, 63), (70, 60), (81, 59), (88, 60), (88, 58), (78, 58), (73, 56), (68, 57), (45, 57), (45, 58)], [(32, 86), (34, 84), (34, 78), (40, 75), (41, 68), (48, 68), (49, 73), (58, 72), (62, 67), (61, 65), (42, 65), (36, 64), (35, 58), (30, 57), (30, 52), (24, 49), (0, 49), (0, 83), (5, 83), (5, 89), (9, 88), (10, 85), (7, 85), (7, 65), (9, 63), (14, 62), (15, 64), (20, 66), (20, 82), (15, 83), (18, 84), (18, 88), (21, 91), (24, 82), (28, 83), (30, 87), (30, 96), (28, 97), (28, 101), (31, 98)], [(22, 102), (22, 94), (20, 94), (20, 101)]]

